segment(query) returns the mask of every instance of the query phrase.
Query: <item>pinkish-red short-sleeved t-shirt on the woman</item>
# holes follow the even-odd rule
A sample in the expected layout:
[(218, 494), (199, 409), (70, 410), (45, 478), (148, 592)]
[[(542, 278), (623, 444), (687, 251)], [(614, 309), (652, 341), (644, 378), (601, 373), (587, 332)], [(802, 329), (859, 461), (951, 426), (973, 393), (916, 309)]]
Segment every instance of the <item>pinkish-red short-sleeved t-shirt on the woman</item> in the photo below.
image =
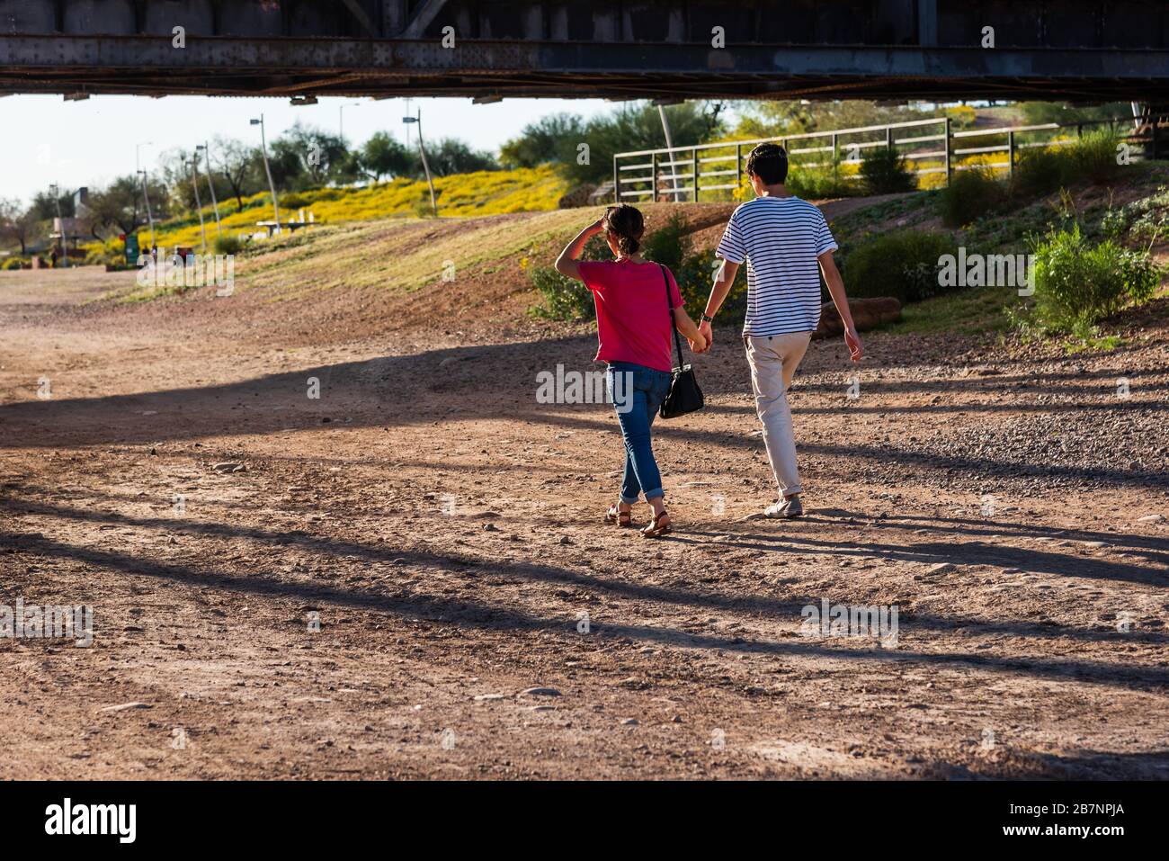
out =
[[(657, 371), (673, 367), (670, 357), (673, 319), (666, 308), (666, 288), (657, 263), (586, 261), (581, 278), (596, 302), (596, 358), (631, 361)], [(682, 308), (682, 292), (673, 273), (669, 308)]]

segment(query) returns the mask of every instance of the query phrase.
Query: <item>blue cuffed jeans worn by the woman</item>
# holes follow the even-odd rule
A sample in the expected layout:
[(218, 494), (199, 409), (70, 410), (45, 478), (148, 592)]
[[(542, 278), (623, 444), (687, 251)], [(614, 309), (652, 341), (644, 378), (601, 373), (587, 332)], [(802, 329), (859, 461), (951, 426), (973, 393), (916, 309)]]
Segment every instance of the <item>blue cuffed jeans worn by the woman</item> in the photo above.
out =
[[(622, 379), (615, 380), (616, 374), (621, 374)], [(606, 383), (625, 441), (621, 501), (631, 505), (637, 502), (638, 494), (644, 494), (646, 500), (663, 496), (662, 474), (650, 445), (650, 428), (658, 407), (670, 394), (670, 374), (630, 361), (611, 361)]]

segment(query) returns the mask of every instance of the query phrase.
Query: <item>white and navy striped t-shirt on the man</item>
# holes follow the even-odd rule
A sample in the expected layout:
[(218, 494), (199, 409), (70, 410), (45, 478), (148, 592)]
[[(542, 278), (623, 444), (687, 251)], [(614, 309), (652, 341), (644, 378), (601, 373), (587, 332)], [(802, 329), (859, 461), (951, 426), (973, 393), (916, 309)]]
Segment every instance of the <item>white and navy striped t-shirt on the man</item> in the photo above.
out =
[(747, 261), (752, 337), (811, 332), (819, 324), (819, 257), (836, 250), (824, 214), (800, 198), (755, 198), (738, 207), (715, 254)]

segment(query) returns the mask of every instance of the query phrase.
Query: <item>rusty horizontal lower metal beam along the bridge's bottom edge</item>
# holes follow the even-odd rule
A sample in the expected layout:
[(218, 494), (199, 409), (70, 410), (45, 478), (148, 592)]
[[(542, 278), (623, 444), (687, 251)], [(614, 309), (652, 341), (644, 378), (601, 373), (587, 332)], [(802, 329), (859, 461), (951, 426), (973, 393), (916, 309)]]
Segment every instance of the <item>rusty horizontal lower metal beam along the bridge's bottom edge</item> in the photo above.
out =
[(0, 94), (1169, 101), (1153, 49), (0, 35)]

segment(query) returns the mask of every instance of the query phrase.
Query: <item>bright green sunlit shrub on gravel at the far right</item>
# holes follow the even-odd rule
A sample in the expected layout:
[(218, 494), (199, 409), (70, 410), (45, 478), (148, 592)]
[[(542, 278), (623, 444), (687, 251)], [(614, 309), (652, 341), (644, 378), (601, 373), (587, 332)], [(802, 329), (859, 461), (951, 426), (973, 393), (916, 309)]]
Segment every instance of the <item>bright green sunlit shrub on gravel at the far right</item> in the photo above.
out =
[(1042, 333), (1084, 332), (1128, 304), (1148, 302), (1161, 269), (1147, 252), (1105, 240), (1092, 246), (1079, 225), (1051, 230), (1035, 248), (1035, 296), (1014, 318)]

